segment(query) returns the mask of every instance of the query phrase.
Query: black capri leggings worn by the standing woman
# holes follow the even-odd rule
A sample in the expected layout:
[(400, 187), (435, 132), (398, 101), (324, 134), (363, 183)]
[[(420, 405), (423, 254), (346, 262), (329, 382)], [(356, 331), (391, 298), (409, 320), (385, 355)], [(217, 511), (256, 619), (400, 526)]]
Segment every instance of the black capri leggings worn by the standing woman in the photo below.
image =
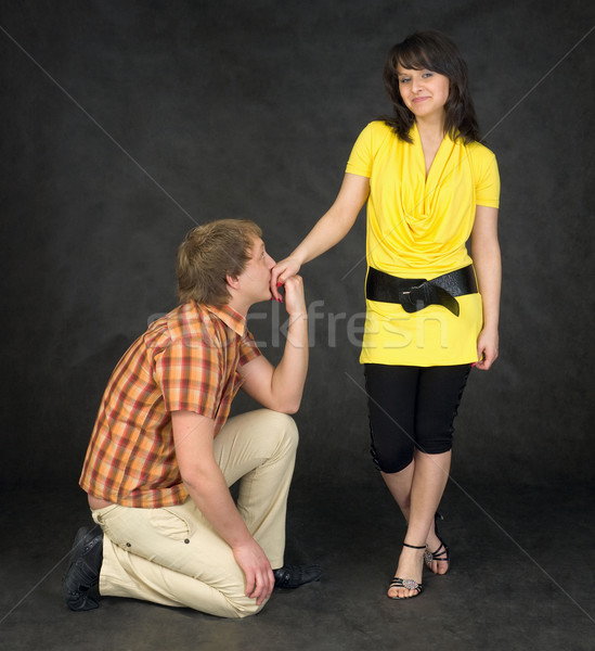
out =
[(372, 458), (378, 470), (399, 472), (414, 449), (448, 452), (470, 363), (448, 367), (365, 365)]

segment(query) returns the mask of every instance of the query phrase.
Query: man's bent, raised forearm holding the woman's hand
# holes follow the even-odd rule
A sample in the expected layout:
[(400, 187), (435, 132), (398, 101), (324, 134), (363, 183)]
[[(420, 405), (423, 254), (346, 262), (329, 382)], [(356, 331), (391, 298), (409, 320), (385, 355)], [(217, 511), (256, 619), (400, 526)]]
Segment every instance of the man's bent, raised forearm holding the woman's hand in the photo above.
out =
[(289, 328), (283, 357), (273, 367), (259, 356), (240, 369), (244, 379), (242, 388), (263, 407), (295, 413), (301, 403), (308, 372), (308, 319), (303, 297), (303, 282), (293, 276), (285, 282), (285, 307)]

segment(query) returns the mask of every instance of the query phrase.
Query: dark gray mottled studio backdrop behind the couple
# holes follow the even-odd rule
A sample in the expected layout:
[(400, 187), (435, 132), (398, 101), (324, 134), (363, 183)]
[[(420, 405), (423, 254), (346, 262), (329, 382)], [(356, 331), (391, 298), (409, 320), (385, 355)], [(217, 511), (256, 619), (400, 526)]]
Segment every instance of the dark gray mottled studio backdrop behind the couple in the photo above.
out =
[[(0, 25), (7, 485), (76, 485), (113, 366), (176, 305), (191, 227), (251, 218), (274, 257), (290, 252), (333, 201), (361, 128), (389, 111), (388, 48), (424, 28), (460, 43), (502, 176), (501, 359), (473, 373), (453, 475), (592, 477), (590, 0), (11, 0)], [(323, 303), (296, 417), (298, 486), (374, 481), (348, 328), (363, 309), (364, 237), (360, 217), (303, 269), (308, 301)], [(284, 320), (276, 305), (256, 311)], [(275, 360), (279, 331), (257, 317)]]

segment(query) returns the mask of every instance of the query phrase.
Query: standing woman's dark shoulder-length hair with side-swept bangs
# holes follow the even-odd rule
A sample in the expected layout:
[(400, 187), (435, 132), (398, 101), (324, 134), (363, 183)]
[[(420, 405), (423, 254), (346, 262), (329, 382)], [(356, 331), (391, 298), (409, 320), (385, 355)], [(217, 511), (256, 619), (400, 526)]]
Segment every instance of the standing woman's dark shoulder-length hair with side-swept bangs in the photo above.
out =
[(444, 104), (444, 131), (453, 140), (463, 138), (466, 144), (481, 140), (468, 88), (467, 64), (452, 39), (440, 31), (417, 31), (393, 46), (388, 53), (384, 79), (394, 107), (394, 116), (385, 117), (384, 120), (394, 129), (399, 138), (412, 142), (409, 131), (415, 116), (401, 99), (397, 65), (416, 71), (428, 69), (448, 77), (450, 92)]

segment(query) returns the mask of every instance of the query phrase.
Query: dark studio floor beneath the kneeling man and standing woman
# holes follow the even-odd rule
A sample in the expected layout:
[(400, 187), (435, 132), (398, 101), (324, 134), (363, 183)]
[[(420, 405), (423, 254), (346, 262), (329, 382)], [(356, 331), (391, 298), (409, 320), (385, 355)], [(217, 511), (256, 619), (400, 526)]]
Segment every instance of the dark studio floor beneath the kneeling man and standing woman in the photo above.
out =
[(595, 521), (585, 485), (449, 483), (442, 535), (452, 565), (426, 571), (421, 598), (385, 592), (404, 533), (384, 486), (294, 486), (287, 562), (320, 562), (320, 583), (276, 591), (241, 621), (105, 598), (73, 613), (61, 577), (82, 494), (4, 487), (2, 651), (406, 651), (595, 649)]

